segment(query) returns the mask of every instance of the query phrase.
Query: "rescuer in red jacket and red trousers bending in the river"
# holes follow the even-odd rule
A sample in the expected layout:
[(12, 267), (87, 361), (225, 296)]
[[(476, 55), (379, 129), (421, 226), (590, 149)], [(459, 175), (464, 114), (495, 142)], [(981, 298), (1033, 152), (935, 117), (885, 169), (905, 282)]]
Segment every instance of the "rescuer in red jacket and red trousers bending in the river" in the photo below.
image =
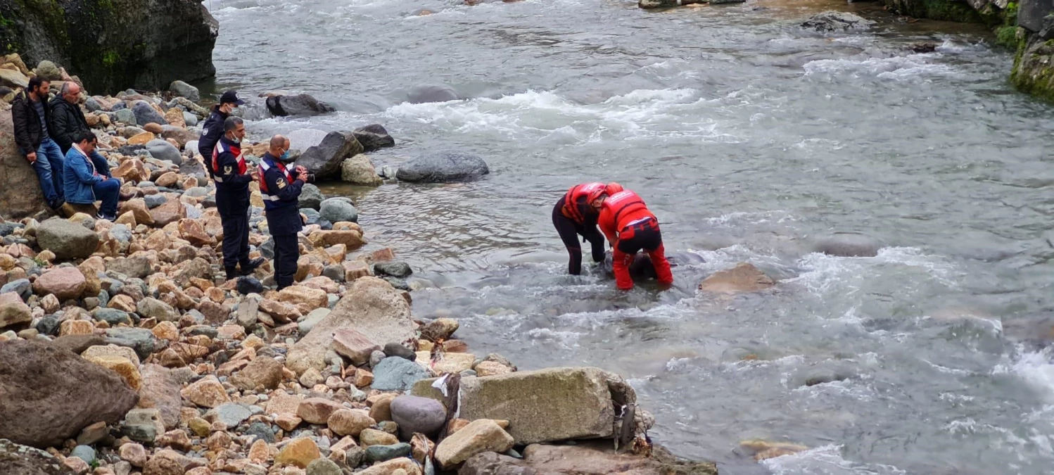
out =
[(659, 220), (648, 211), (640, 196), (630, 191), (608, 196), (607, 190), (603, 190), (591, 194), (589, 203), (600, 210), (597, 223), (614, 248), (612, 264), (614, 282), (619, 290), (628, 291), (633, 288), (633, 279), (629, 276), (629, 264), (633, 262), (637, 252), (642, 249), (651, 258), (659, 283), (664, 285), (674, 283), (674, 273), (669, 270), (666, 252), (662, 245)]

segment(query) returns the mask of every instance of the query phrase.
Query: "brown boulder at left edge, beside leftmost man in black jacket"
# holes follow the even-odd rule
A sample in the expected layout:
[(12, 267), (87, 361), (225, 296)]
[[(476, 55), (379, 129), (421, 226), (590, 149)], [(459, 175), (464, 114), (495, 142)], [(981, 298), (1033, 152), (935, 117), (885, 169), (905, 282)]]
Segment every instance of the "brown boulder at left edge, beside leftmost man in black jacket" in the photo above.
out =
[[(7, 71), (7, 70), (0, 70)], [(33, 165), (18, 153), (11, 111), (0, 111), (0, 217), (17, 220), (47, 210)]]

